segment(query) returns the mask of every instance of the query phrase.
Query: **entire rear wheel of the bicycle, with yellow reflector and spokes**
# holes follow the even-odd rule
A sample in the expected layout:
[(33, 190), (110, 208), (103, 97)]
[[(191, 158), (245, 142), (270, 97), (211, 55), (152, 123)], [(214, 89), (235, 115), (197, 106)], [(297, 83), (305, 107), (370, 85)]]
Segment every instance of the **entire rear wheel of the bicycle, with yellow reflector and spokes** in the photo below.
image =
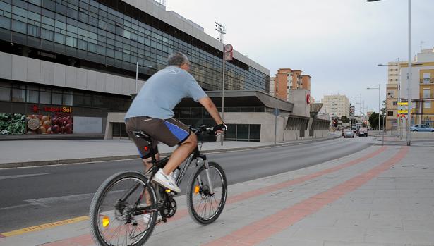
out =
[[(155, 190), (142, 173), (116, 173), (102, 183), (90, 204), (90, 229), (97, 245), (143, 245), (157, 220)], [(147, 219), (137, 209), (147, 207)]]

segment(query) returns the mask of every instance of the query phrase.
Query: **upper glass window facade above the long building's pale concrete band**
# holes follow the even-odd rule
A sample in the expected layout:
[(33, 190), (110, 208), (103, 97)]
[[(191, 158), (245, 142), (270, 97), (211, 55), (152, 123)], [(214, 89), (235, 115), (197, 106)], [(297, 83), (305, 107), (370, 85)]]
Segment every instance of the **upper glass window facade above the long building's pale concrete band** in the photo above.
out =
[[(181, 51), (204, 90), (222, 80), (222, 51), (121, 0), (0, 0), (1, 51), (68, 66), (107, 70), (146, 79)], [(56, 56), (43, 56), (41, 52)], [(27, 52), (27, 53), (26, 53)], [(227, 90), (268, 92), (269, 73), (234, 59), (226, 66)]]

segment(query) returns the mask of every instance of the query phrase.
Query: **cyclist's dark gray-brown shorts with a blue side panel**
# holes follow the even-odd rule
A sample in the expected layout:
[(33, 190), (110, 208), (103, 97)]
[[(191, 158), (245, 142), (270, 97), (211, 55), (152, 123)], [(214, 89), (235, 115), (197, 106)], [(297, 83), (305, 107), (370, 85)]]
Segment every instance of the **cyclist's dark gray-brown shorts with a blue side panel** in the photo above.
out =
[(149, 158), (151, 156), (150, 150), (146, 140), (143, 138), (135, 137), (133, 131), (143, 130), (147, 135), (152, 138), (152, 147), (155, 154), (158, 153), (157, 144), (162, 142), (170, 147), (176, 144), (183, 143), (190, 136), (190, 129), (181, 121), (175, 118), (160, 119), (151, 118), (147, 116), (133, 117), (126, 120), (126, 133), (131, 137), (138, 148), (140, 157)]

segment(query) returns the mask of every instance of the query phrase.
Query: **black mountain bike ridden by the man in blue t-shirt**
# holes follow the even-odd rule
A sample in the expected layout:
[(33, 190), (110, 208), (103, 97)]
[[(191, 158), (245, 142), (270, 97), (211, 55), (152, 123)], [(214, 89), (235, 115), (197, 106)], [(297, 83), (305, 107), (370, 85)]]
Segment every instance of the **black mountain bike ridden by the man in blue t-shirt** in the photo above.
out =
[[(196, 135), (210, 133), (205, 125), (191, 129)], [(157, 161), (149, 135), (133, 132), (143, 137), (152, 154), (152, 167), (145, 174), (121, 171), (107, 178), (98, 188), (90, 205), (92, 238), (98, 245), (143, 245), (150, 238), (157, 223), (167, 222), (176, 213), (176, 192), (151, 183), (159, 168), (170, 156)], [(179, 185), (191, 164), (196, 170), (188, 180), (187, 209), (193, 221), (199, 224), (214, 222), (222, 213), (227, 198), (227, 180), (223, 168), (208, 162), (200, 154), (203, 141), (188, 156), (186, 164), (176, 178)], [(161, 219), (157, 219), (158, 214)], [(117, 226), (116, 226), (117, 225)]]

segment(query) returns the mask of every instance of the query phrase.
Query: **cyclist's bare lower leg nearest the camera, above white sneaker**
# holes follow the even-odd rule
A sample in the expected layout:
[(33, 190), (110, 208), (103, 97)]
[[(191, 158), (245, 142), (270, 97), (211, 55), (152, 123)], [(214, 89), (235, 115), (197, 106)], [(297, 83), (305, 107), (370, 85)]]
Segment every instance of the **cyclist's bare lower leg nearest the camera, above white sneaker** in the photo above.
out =
[(171, 171), (174, 171), (175, 168), (187, 159), (196, 146), (198, 146), (198, 137), (194, 133), (191, 133), (171, 154), (169, 161), (167, 161), (166, 166), (163, 168), (163, 173), (169, 175)]

